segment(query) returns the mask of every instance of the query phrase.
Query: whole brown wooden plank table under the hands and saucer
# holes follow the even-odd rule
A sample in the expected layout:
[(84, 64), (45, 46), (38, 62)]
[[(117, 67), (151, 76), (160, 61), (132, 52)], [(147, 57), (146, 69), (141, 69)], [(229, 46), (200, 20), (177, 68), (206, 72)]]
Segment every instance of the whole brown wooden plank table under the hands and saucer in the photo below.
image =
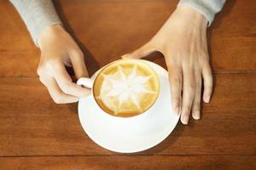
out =
[[(177, 5), (170, 0), (60, 0), (90, 75), (139, 48)], [(77, 104), (55, 105), (36, 73), (40, 52), (0, 0), (0, 169), (255, 169), (256, 3), (229, 0), (208, 28), (214, 92), (201, 121), (180, 122), (150, 150), (118, 154), (84, 133)], [(163, 58), (154, 62), (166, 67)]]

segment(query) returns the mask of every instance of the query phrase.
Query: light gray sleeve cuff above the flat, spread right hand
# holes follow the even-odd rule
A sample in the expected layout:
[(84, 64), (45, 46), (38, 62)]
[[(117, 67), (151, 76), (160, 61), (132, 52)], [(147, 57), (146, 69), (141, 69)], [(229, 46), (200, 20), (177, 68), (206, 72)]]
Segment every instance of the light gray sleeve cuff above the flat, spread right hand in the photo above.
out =
[(214, 15), (223, 8), (226, 0), (180, 0), (178, 5), (188, 5), (204, 14), (208, 20), (208, 26), (211, 26)]

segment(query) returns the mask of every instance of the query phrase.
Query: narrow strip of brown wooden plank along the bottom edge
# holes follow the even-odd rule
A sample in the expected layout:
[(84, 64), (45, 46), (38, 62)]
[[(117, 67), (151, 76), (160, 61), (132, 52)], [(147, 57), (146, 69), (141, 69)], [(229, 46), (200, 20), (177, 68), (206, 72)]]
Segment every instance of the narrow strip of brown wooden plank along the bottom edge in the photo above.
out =
[(255, 156), (39, 156), (0, 158), (0, 163), (4, 170), (252, 170), (255, 159)]

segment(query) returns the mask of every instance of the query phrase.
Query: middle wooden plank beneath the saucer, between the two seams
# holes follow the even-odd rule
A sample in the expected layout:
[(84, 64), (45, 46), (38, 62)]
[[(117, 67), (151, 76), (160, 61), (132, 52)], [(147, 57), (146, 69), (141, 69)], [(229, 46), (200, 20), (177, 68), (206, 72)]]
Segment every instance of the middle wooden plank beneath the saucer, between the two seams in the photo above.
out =
[[(256, 74), (218, 74), (201, 121), (142, 155), (255, 155)], [(115, 155), (85, 135), (77, 105), (55, 105), (37, 78), (0, 79), (0, 156)], [(234, 83), (236, 82), (236, 83)]]

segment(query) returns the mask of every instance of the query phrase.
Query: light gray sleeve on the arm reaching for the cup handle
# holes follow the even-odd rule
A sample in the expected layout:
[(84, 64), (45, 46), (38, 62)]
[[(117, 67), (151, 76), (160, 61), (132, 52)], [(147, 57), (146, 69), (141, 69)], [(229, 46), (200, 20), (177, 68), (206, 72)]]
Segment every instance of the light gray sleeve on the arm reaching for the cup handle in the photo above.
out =
[(45, 27), (61, 24), (51, 0), (9, 0), (24, 20), (33, 41), (38, 46), (38, 36)]

